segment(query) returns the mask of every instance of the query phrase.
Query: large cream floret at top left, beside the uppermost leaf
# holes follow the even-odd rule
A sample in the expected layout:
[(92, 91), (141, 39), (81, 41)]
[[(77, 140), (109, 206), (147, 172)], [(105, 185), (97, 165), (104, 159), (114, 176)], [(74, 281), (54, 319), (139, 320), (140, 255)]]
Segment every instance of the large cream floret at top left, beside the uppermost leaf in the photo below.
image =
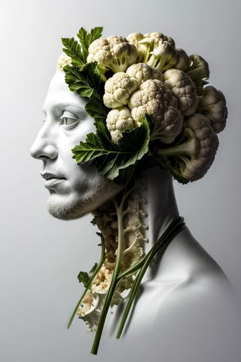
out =
[[(94, 40), (88, 47), (87, 63), (97, 62), (101, 74), (111, 69), (114, 73), (125, 72), (138, 58), (135, 45), (120, 36)], [(106, 79), (105, 79), (106, 80)]]

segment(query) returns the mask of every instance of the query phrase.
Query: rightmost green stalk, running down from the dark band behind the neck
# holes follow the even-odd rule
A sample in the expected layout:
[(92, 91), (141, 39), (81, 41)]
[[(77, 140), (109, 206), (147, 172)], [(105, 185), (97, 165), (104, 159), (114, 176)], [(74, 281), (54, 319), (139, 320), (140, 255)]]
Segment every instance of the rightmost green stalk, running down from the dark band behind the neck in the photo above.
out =
[(163, 250), (165, 248), (165, 246), (167, 246), (170, 241), (181, 231), (184, 229), (185, 227), (185, 222), (184, 222), (184, 218), (183, 217), (178, 217), (177, 219), (175, 219), (172, 224), (166, 229), (166, 231), (163, 233), (163, 235), (159, 238), (159, 240), (157, 241), (157, 243), (153, 246), (152, 249), (149, 250), (149, 252), (146, 254), (146, 256), (144, 257), (145, 261), (144, 264), (142, 266), (142, 268), (140, 269), (134, 283), (131, 289), (131, 293), (128, 299), (128, 303), (126, 306), (126, 309), (124, 311), (122, 320), (120, 322), (117, 334), (116, 334), (116, 339), (119, 339), (120, 336), (122, 335), (127, 317), (129, 315), (132, 303), (136, 297), (136, 294), (138, 292), (140, 283), (142, 281), (142, 278), (146, 272), (147, 267), (149, 266), (150, 262), (153, 260), (153, 258), (155, 257), (155, 255), (159, 252), (159, 250)]

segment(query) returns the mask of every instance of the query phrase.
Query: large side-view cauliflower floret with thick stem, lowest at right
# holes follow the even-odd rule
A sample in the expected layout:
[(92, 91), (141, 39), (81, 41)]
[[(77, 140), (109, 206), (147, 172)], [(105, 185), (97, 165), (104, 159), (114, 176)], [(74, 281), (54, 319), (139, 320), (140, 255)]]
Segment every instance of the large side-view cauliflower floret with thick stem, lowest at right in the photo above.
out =
[(217, 134), (209, 120), (198, 113), (183, 124), (188, 140), (178, 146), (159, 149), (157, 153), (169, 158), (174, 173), (190, 181), (202, 178), (212, 165), (219, 146)]

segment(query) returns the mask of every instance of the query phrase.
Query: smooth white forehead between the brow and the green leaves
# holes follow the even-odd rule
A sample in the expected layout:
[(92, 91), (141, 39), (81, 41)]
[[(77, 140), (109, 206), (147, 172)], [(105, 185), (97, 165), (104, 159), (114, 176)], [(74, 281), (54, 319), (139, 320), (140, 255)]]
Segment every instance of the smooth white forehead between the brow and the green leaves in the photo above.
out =
[(77, 104), (84, 108), (87, 100), (80, 97), (77, 93), (71, 92), (65, 82), (65, 73), (56, 71), (50, 81), (43, 108), (44, 110), (47, 110), (48, 108), (53, 108), (54, 106), (63, 103), (66, 105)]

